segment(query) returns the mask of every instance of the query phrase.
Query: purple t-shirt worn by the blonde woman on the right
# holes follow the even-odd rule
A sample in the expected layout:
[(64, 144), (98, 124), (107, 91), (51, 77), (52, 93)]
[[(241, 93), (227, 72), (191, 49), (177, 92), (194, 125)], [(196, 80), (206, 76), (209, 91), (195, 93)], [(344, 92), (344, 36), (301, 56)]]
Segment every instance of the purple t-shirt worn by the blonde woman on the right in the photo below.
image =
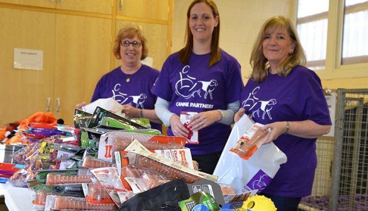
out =
[[(269, 74), (260, 83), (249, 79), (240, 104), (246, 114), (262, 124), (312, 120), (319, 125), (331, 125), (321, 81), (315, 72), (303, 66), (294, 67), (287, 77)], [(288, 197), (310, 195), (317, 165), (315, 141), (316, 138), (289, 134), (274, 140), (288, 161), (263, 192)]]

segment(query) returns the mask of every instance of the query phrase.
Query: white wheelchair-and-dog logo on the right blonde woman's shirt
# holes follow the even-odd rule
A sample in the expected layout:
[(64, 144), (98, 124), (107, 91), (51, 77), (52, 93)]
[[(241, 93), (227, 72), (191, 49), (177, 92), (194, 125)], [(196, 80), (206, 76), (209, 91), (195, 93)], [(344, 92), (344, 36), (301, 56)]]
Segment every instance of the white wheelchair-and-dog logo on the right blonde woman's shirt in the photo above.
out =
[(257, 115), (258, 117), (261, 117), (262, 115), (262, 119), (264, 119), (264, 117), (267, 115), (267, 117), (272, 120), (270, 111), (272, 110), (272, 107), (277, 104), (277, 101), (276, 99), (261, 101), (258, 97), (256, 97), (256, 94), (259, 90), (259, 86), (254, 88), (253, 91), (249, 93), (248, 98), (241, 103), (241, 106), (246, 110), (251, 111), (251, 116)]

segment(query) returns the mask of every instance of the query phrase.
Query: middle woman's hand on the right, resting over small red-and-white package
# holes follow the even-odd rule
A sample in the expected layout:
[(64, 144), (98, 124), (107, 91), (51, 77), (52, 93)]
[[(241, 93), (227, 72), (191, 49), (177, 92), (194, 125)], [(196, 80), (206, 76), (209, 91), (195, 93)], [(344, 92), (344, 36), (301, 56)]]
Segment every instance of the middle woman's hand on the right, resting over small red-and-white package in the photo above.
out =
[(221, 120), (221, 114), (218, 110), (209, 110), (195, 114), (188, 127), (192, 131), (199, 131)]

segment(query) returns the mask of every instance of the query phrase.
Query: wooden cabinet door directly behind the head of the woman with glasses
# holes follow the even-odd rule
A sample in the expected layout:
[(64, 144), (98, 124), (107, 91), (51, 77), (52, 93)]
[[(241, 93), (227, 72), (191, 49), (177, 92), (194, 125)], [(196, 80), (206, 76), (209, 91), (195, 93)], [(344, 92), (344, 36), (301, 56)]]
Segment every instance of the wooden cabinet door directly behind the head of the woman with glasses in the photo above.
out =
[[(167, 25), (117, 21), (116, 34), (122, 27), (129, 24), (142, 26), (147, 39), (148, 57), (153, 58), (153, 68), (161, 70), (162, 64), (167, 58)], [(120, 65), (121, 61), (115, 59), (115, 67)]]

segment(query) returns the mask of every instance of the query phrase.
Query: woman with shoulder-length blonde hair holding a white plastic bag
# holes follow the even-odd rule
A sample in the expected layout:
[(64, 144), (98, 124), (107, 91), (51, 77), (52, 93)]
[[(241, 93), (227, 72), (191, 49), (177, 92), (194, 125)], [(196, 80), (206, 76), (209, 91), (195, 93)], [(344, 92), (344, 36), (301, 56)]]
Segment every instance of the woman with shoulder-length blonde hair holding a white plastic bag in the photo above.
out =
[(276, 16), (262, 26), (250, 58), (253, 72), (241, 94), (237, 121), (244, 113), (271, 133), (266, 143), (288, 161), (262, 194), (280, 211), (297, 211), (301, 197), (312, 192), (317, 137), (330, 131), (331, 120), (321, 81), (302, 66), (306, 58), (293, 24)]

